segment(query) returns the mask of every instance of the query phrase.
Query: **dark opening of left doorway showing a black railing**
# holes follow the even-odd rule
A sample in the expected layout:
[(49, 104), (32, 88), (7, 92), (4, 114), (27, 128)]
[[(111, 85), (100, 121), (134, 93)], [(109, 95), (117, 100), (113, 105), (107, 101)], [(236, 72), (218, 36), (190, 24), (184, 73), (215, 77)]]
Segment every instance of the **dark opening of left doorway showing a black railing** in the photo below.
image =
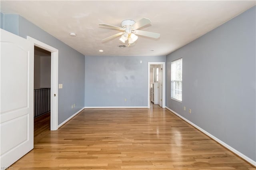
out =
[(34, 46), (34, 143), (50, 131), (51, 52)]

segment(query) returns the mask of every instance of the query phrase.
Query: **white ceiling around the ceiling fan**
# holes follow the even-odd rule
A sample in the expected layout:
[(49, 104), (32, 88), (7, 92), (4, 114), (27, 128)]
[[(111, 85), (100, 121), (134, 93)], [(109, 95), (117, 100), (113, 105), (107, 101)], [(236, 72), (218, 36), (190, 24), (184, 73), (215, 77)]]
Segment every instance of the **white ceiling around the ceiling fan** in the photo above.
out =
[[(167, 55), (256, 4), (256, 1), (3, 1), (1, 12), (20, 14), (84, 55)], [(158, 39), (139, 36), (120, 48), (119, 38), (101, 40), (118, 30), (122, 20), (149, 18), (140, 30), (160, 33)], [(75, 38), (69, 35), (75, 32)], [(103, 49), (104, 52), (99, 52)], [(154, 51), (151, 51), (154, 50)]]

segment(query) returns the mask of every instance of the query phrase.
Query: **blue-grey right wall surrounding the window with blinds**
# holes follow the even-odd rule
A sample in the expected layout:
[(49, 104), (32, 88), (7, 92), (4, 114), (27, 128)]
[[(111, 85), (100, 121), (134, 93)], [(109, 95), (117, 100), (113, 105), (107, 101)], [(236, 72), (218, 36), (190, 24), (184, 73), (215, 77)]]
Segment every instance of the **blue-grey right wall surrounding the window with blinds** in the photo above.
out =
[[(254, 161), (255, 14), (254, 6), (166, 57), (167, 107)], [(181, 57), (183, 89), (179, 103), (170, 99), (170, 65)]]

